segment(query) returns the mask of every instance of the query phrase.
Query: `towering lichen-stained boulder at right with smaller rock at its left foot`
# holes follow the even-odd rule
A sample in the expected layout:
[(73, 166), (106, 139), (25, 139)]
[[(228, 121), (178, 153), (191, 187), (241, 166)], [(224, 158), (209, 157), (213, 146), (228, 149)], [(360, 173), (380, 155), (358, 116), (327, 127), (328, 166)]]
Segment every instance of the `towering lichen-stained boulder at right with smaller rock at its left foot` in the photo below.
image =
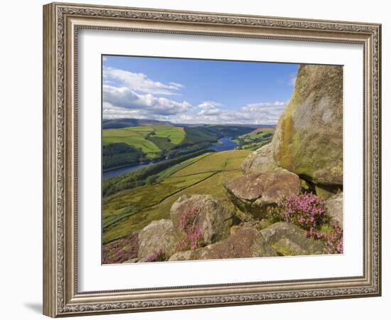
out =
[(343, 70), (301, 65), (272, 142), (244, 161), (245, 174), (282, 167), (312, 183), (343, 184)]

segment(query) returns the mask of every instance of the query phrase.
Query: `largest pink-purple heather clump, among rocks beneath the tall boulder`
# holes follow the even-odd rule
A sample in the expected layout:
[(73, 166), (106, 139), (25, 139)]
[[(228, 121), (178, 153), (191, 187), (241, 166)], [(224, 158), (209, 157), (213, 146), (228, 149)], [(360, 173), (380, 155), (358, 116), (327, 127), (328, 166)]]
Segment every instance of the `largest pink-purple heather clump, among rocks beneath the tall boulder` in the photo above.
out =
[(283, 220), (299, 225), (305, 230), (317, 228), (327, 218), (323, 199), (312, 193), (283, 198), (277, 209)]

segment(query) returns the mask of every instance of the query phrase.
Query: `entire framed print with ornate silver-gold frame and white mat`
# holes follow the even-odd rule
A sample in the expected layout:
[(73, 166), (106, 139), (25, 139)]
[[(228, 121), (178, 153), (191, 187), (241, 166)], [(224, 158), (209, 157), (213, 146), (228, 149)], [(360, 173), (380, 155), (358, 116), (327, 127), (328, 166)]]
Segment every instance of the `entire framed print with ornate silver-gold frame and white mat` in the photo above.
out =
[(48, 316), (381, 294), (377, 23), (43, 7)]

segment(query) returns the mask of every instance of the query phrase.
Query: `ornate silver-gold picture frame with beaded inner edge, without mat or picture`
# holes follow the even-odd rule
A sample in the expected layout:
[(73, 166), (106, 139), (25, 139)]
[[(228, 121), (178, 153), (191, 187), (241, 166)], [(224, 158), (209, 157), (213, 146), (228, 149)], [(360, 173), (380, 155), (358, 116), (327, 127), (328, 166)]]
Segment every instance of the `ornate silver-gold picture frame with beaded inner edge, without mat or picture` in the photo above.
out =
[[(363, 274), (80, 292), (77, 275), (77, 41), (82, 29), (356, 43), (363, 46)], [(53, 3), (43, 6), (43, 313), (79, 316), (381, 295), (381, 26)]]

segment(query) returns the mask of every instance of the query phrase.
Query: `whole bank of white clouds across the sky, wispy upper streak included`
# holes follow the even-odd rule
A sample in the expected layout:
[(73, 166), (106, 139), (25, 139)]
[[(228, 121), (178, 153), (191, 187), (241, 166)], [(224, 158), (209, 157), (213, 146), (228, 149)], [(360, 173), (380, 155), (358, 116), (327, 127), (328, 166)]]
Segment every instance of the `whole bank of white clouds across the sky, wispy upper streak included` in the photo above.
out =
[(181, 83), (161, 83), (143, 73), (103, 69), (103, 117), (156, 119), (183, 124), (276, 124), (286, 102), (257, 102), (235, 109), (208, 100), (191, 105), (161, 95), (178, 95)]

